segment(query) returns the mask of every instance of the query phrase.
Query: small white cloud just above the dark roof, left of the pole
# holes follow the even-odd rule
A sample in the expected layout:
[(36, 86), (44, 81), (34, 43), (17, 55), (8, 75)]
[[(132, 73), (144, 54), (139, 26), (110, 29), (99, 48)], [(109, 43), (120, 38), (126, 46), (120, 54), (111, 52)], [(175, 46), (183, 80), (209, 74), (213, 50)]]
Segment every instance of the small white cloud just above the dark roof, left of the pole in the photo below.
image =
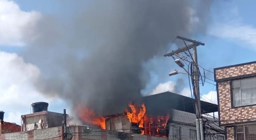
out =
[[(174, 92), (176, 93), (177, 89), (176, 89), (177, 84), (175, 82), (172, 81), (168, 81), (165, 83), (160, 83), (156, 86), (156, 88), (154, 88), (154, 90), (150, 93), (147, 94), (148, 95), (154, 95), (154, 94), (159, 94), (162, 92)], [(188, 88), (184, 88), (180, 93), (177, 93), (183, 96), (188, 96), (190, 97), (191, 93), (190, 90)]]

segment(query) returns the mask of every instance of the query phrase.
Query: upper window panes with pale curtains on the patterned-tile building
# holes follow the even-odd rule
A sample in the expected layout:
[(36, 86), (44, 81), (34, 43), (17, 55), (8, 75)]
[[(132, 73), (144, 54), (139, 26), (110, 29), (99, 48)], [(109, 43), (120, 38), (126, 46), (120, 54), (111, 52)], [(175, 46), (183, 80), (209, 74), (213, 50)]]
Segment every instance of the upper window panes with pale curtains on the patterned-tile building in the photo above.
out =
[(256, 77), (232, 81), (233, 106), (256, 104)]

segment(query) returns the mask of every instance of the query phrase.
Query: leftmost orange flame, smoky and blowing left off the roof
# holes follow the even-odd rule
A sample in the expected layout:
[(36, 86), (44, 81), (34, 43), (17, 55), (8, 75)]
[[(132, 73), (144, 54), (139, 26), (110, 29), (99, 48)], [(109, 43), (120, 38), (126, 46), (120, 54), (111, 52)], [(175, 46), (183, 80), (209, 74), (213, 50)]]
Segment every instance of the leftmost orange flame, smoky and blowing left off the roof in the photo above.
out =
[(106, 129), (106, 118), (102, 116), (96, 116), (93, 110), (84, 108), (82, 105), (77, 107), (79, 117), (83, 122), (100, 126), (102, 129)]

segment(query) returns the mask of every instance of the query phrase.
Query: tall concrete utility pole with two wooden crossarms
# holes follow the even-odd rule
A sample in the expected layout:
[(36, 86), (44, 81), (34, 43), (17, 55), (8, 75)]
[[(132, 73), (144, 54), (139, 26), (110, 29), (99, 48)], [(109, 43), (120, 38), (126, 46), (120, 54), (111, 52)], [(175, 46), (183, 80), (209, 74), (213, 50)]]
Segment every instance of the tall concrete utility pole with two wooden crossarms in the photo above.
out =
[(184, 44), (186, 45), (185, 47), (172, 51), (168, 54), (164, 54), (164, 56), (173, 56), (173, 55), (178, 56), (178, 53), (184, 52), (186, 50), (193, 48), (192, 59), (194, 62), (194, 72), (193, 72), (194, 77), (192, 78), (194, 79), (194, 86), (195, 86), (195, 92), (196, 92), (195, 93), (196, 94), (196, 138), (197, 140), (204, 140), (204, 128), (203, 128), (202, 115), (201, 115), (201, 102), (200, 102), (200, 91), (199, 91), (199, 70), (198, 70), (197, 51), (196, 51), (196, 47), (199, 45), (204, 46), (204, 43), (198, 42), (196, 40), (184, 38), (181, 36), (176, 36), (176, 38), (181, 39), (183, 41), (186, 40), (188, 42), (192, 42), (192, 44), (186, 45), (186, 43), (184, 42)]

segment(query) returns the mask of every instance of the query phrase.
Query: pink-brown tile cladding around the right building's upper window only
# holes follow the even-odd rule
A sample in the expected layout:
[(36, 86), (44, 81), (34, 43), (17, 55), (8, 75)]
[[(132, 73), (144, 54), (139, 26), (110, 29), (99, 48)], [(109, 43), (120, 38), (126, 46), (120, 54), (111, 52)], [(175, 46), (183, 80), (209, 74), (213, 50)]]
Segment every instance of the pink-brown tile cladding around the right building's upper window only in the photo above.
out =
[(230, 80), (245, 76), (256, 76), (256, 62), (241, 66), (216, 68), (214, 72), (215, 80), (218, 83), (220, 124), (246, 122), (248, 120), (241, 119), (256, 118), (256, 106), (232, 108), (230, 93), (230, 84), (232, 84)]

